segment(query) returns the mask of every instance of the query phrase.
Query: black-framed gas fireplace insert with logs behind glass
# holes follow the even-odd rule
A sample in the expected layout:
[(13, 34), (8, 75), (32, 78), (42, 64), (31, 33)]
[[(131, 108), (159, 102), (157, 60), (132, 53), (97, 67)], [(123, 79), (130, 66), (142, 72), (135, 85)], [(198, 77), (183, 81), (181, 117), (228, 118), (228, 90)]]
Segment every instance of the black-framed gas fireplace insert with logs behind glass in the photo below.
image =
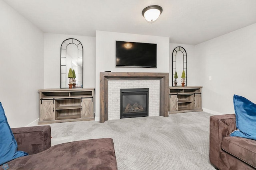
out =
[(148, 116), (148, 88), (120, 89), (120, 118)]

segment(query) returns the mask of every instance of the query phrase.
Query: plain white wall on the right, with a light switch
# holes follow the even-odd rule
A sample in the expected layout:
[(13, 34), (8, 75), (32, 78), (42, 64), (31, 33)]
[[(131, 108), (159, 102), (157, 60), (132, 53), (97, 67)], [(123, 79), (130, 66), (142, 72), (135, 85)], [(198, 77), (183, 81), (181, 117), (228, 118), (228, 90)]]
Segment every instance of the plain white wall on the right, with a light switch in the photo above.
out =
[[(215, 114), (234, 113), (233, 95), (256, 103), (256, 24), (195, 46), (200, 63), (202, 107)], [(209, 80), (212, 76), (212, 80)]]

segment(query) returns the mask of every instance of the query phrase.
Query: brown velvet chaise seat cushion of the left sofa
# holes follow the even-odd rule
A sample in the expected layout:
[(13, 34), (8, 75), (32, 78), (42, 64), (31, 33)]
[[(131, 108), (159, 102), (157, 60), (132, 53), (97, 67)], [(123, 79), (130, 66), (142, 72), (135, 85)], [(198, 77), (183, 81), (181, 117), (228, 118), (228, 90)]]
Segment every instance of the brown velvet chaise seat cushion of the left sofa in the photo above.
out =
[[(114, 143), (110, 138), (54, 145), (47, 150), (8, 162), (31, 170), (116, 170)], [(11, 167), (10, 167), (11, 168)]]

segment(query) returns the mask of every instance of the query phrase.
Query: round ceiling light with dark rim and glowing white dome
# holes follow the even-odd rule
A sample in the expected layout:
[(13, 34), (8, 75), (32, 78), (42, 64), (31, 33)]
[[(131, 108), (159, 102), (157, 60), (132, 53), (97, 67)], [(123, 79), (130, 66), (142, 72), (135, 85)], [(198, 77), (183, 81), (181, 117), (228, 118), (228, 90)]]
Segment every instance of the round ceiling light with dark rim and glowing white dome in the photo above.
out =
[(144, 16), (147, 21), (153, 22), (158, 19), (162, 12), (163, 8), (161, 6), (151, 5), (142, 10), (142, 16)]

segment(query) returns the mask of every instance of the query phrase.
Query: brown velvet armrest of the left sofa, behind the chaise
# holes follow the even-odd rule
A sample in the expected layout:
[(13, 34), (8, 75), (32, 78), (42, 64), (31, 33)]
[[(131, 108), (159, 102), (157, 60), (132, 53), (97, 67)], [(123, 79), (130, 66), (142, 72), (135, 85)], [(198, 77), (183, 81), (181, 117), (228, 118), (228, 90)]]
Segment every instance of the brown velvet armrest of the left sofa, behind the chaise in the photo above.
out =
[(18, 150), (28, 154), (36, 154), (51, 147), (51, 127), (32, 126), (12, 128), (18, 144)]

